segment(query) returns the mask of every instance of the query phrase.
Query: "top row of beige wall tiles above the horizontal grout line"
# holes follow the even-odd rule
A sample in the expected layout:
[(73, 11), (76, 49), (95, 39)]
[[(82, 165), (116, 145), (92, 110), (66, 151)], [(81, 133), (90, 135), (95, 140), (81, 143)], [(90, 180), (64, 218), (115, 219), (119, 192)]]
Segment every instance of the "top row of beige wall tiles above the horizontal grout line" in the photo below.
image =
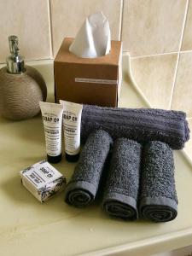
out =
[(0, 62), (10, 34), (20, 37), (26, 59), (52, 58), (62, 39), (74, 37), (84, 18), (99, 10), (131, 57), (192, 50), (191, 0), (2, 0)]

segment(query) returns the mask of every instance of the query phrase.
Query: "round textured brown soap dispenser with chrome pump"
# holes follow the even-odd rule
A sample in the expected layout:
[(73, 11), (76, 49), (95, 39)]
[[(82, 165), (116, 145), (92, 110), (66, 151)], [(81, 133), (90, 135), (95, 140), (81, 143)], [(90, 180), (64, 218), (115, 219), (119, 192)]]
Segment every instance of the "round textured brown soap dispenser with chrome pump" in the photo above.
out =
[(39, 102), (46, 100), (46, 84), (34, 67), (25, 65), (16, 36), (9, 37), (9, 49), (7, 67), (0, 69), (0, 110), (8, 119), (29, 119), (40, 112)]

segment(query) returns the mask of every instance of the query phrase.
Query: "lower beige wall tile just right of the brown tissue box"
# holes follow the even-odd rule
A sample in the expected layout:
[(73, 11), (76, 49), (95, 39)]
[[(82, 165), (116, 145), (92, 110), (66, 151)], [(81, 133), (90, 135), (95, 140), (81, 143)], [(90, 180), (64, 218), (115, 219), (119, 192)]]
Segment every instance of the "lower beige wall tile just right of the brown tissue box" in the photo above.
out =
[(170, 108), (178, 54), (132, 59), (133, 76), (153, 108)]

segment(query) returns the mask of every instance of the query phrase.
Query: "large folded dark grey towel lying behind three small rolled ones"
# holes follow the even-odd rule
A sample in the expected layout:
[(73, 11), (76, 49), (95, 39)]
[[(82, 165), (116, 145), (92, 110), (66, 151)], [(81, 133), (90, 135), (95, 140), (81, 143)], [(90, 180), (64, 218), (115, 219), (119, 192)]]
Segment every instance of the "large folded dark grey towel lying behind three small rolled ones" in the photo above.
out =
[(81, 141), (90, 132), (103, 129), (115, 140), (126, 137), (140, 143), (161, 141), (173, 149), (181, 149), (189, 140), (186, 114), (147, 108), (103, 108), (84, 105), (81, 119)]

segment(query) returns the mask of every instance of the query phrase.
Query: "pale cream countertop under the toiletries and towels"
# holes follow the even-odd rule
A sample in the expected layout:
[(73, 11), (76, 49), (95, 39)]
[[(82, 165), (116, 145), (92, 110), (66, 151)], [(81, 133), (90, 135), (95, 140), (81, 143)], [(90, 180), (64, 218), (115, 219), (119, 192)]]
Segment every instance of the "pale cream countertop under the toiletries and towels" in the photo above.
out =
[[(119, 107), (148, 107), (128, 76), (123, 61)], [(48, 84), (53, 101), (52, 61), (31, 62)], [(165, 224), (125, 222), (109, 218), (101, 205), (77, 209), (63, 201), (63, 193), (44, 204), (20, 183), (19, 172), (44, 160), (41, 115), (12, 122), (0, 119), (0, 255), (150, 255), (192, 244), (192, 165), (183, 152), (175, 152), (178, 215)], [(71, 177), (75, 164), (64, 159), (55, 167)]]

